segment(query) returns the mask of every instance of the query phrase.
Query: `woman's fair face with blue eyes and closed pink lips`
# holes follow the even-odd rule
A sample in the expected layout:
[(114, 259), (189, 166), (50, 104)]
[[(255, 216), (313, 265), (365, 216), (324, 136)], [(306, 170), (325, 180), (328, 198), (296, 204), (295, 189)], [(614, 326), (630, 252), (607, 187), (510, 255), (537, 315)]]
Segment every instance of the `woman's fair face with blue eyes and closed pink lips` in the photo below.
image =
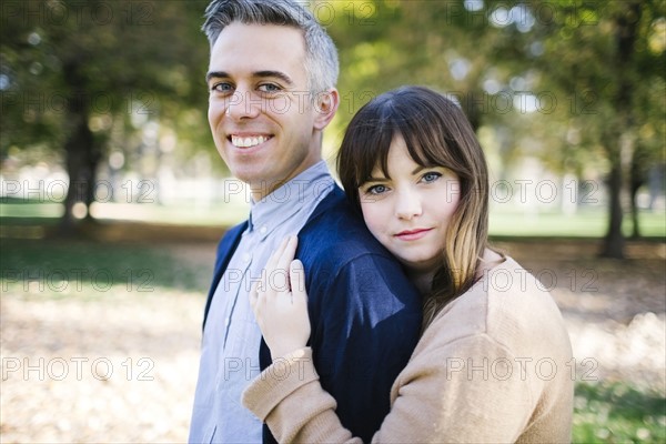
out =
[(411, 271), (441, 264), (446, 228), (460, 201), (460, 181), (444, 167), (422, 167), (402, 135), (389, 151), (389, 175), (381, 167), (359, 188), (363, 219), (372, 234)]

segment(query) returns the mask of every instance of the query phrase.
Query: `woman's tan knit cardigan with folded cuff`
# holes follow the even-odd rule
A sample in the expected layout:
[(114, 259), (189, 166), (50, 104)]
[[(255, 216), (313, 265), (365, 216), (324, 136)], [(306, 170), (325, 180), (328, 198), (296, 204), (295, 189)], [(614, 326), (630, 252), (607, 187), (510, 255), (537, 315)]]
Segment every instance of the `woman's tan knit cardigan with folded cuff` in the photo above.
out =
[[(507, 258), (426, 329), (372, 442), (571, 442), (574, 379), (557, 305)], [(335, 415), (307, 347), (275, 360), (243, 404), (281, 443), (361, 442)]]

